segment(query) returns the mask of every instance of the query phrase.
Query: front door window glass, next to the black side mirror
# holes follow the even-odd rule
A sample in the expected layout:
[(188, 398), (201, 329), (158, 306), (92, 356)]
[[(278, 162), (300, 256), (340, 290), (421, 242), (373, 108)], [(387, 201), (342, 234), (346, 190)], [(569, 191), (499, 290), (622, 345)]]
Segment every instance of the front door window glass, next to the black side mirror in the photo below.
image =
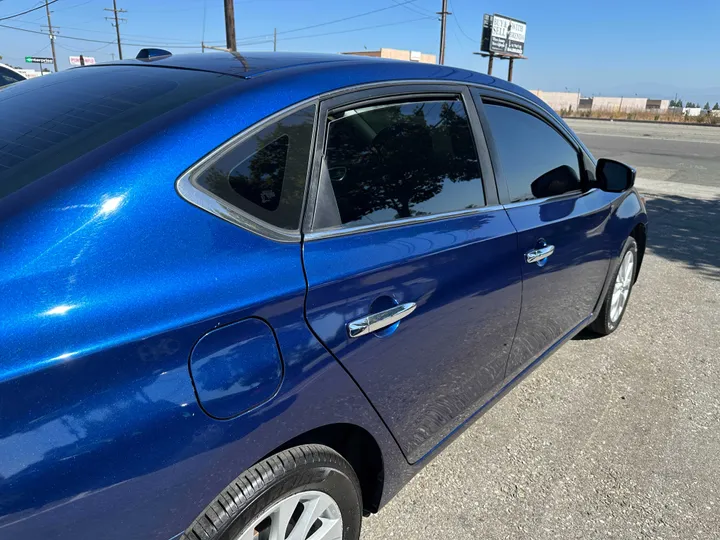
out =
[(529, 113), (485, 105), (510, 201), (580, 189), (578, 153), (554, 128)]

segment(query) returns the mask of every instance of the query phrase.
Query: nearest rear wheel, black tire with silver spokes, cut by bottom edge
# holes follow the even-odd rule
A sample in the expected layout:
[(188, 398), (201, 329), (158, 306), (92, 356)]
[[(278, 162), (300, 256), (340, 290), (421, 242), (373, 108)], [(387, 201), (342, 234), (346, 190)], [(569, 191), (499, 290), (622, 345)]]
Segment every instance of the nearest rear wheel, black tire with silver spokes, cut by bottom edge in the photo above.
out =
[[(286, 527), (282, 516), (291, 516)], [(285, 529), (280, 539), (296, 533), (293, 539), (305, 540), (322, 529), (328, 533), (319, 535), (322, 540), (358, 540), (361, 521), (360, 484), (350, 464), (326, 446), (309, 444), (275, 454), (242, 473), (180, 540), (264, 539), (275, 528)], [(307, 533), (298, 535), (301, 531)]]

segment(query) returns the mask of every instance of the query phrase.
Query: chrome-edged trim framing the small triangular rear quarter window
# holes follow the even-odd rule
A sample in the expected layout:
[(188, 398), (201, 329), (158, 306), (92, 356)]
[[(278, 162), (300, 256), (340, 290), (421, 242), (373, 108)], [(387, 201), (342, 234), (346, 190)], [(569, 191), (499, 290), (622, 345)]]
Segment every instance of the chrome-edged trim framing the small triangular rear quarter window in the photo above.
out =
[[(249, 128), (241, 131), (234, 137), (228, 139), (220, 146), (215, 148), (212, 152), (205, 155), (202, 159), (190, 166), (180, 177), (175, 181), (175, 189), (178, 194), (190, 204), (197, 206), (201, 210), (205, 210), (210, 214), (213, 214), (225, 221), (228, 221), (234, 225), (237, 225), (243, 229), (246, 229), (252, 233), (258, 234), (270, 240), (283, 243), (298, 243), (301, 241), (301, 227), (304, 218), (304, 209), (307, 202), (308, 185), (309, 185), (309, 174), (312, 169), (312, 158), (313, 149), (315, 147), (315, 134), (317, 132), (317, 119), (319, 107), (319, 98), (313, 97), (300, 101), (286, 109), (278, 111), (270, 116), (262, 119), (260, 122), (253, 124)], [(292, 114), (295, 114), (302, 109), (305, 109), (313, 105), (315, 107), (312, 139), (310, 141), (310, 153), (308, 156), (308, 168), (305, 176), (305, 190), (302, 205), (300, 207), (300, 216), (298, 218), (298, 228), (294, 230), (283, 229), (268, 223), (267, 221), (250, 214), (244, 210), (241, 210), (237, 206), (230, 204), (224, 199), (218, 197), (214, 193), (208, 191), (204, 187), (200, 186), (195, 182), (195, 179), (202, 174), (208, 166), (212, 165), (217, 159), (223, 157), (229, 152), (235, 150), (238, 146), (243, 144), (246, 140), (257, 135), (259, 132), (264, 130), (271, 124), (282, 120)]]

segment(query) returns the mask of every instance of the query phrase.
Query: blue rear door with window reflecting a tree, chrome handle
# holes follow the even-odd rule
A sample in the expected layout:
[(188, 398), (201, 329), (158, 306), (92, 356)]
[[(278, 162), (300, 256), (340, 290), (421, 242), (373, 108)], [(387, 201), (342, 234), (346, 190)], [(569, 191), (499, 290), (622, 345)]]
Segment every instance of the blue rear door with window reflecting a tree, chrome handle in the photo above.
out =
[(307, 319), (415, 462), (502, 385), (515, 229), (466, 87), (346, 94), (322, 104), (319, 126)]

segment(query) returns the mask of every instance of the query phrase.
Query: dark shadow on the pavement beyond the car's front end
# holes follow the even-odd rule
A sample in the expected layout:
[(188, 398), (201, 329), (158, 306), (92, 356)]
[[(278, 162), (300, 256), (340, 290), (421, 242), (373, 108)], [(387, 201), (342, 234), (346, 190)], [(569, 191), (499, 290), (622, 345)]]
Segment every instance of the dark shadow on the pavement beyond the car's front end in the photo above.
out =
[(647, 200), (648, 251), (720, 280), (720, 199)]

